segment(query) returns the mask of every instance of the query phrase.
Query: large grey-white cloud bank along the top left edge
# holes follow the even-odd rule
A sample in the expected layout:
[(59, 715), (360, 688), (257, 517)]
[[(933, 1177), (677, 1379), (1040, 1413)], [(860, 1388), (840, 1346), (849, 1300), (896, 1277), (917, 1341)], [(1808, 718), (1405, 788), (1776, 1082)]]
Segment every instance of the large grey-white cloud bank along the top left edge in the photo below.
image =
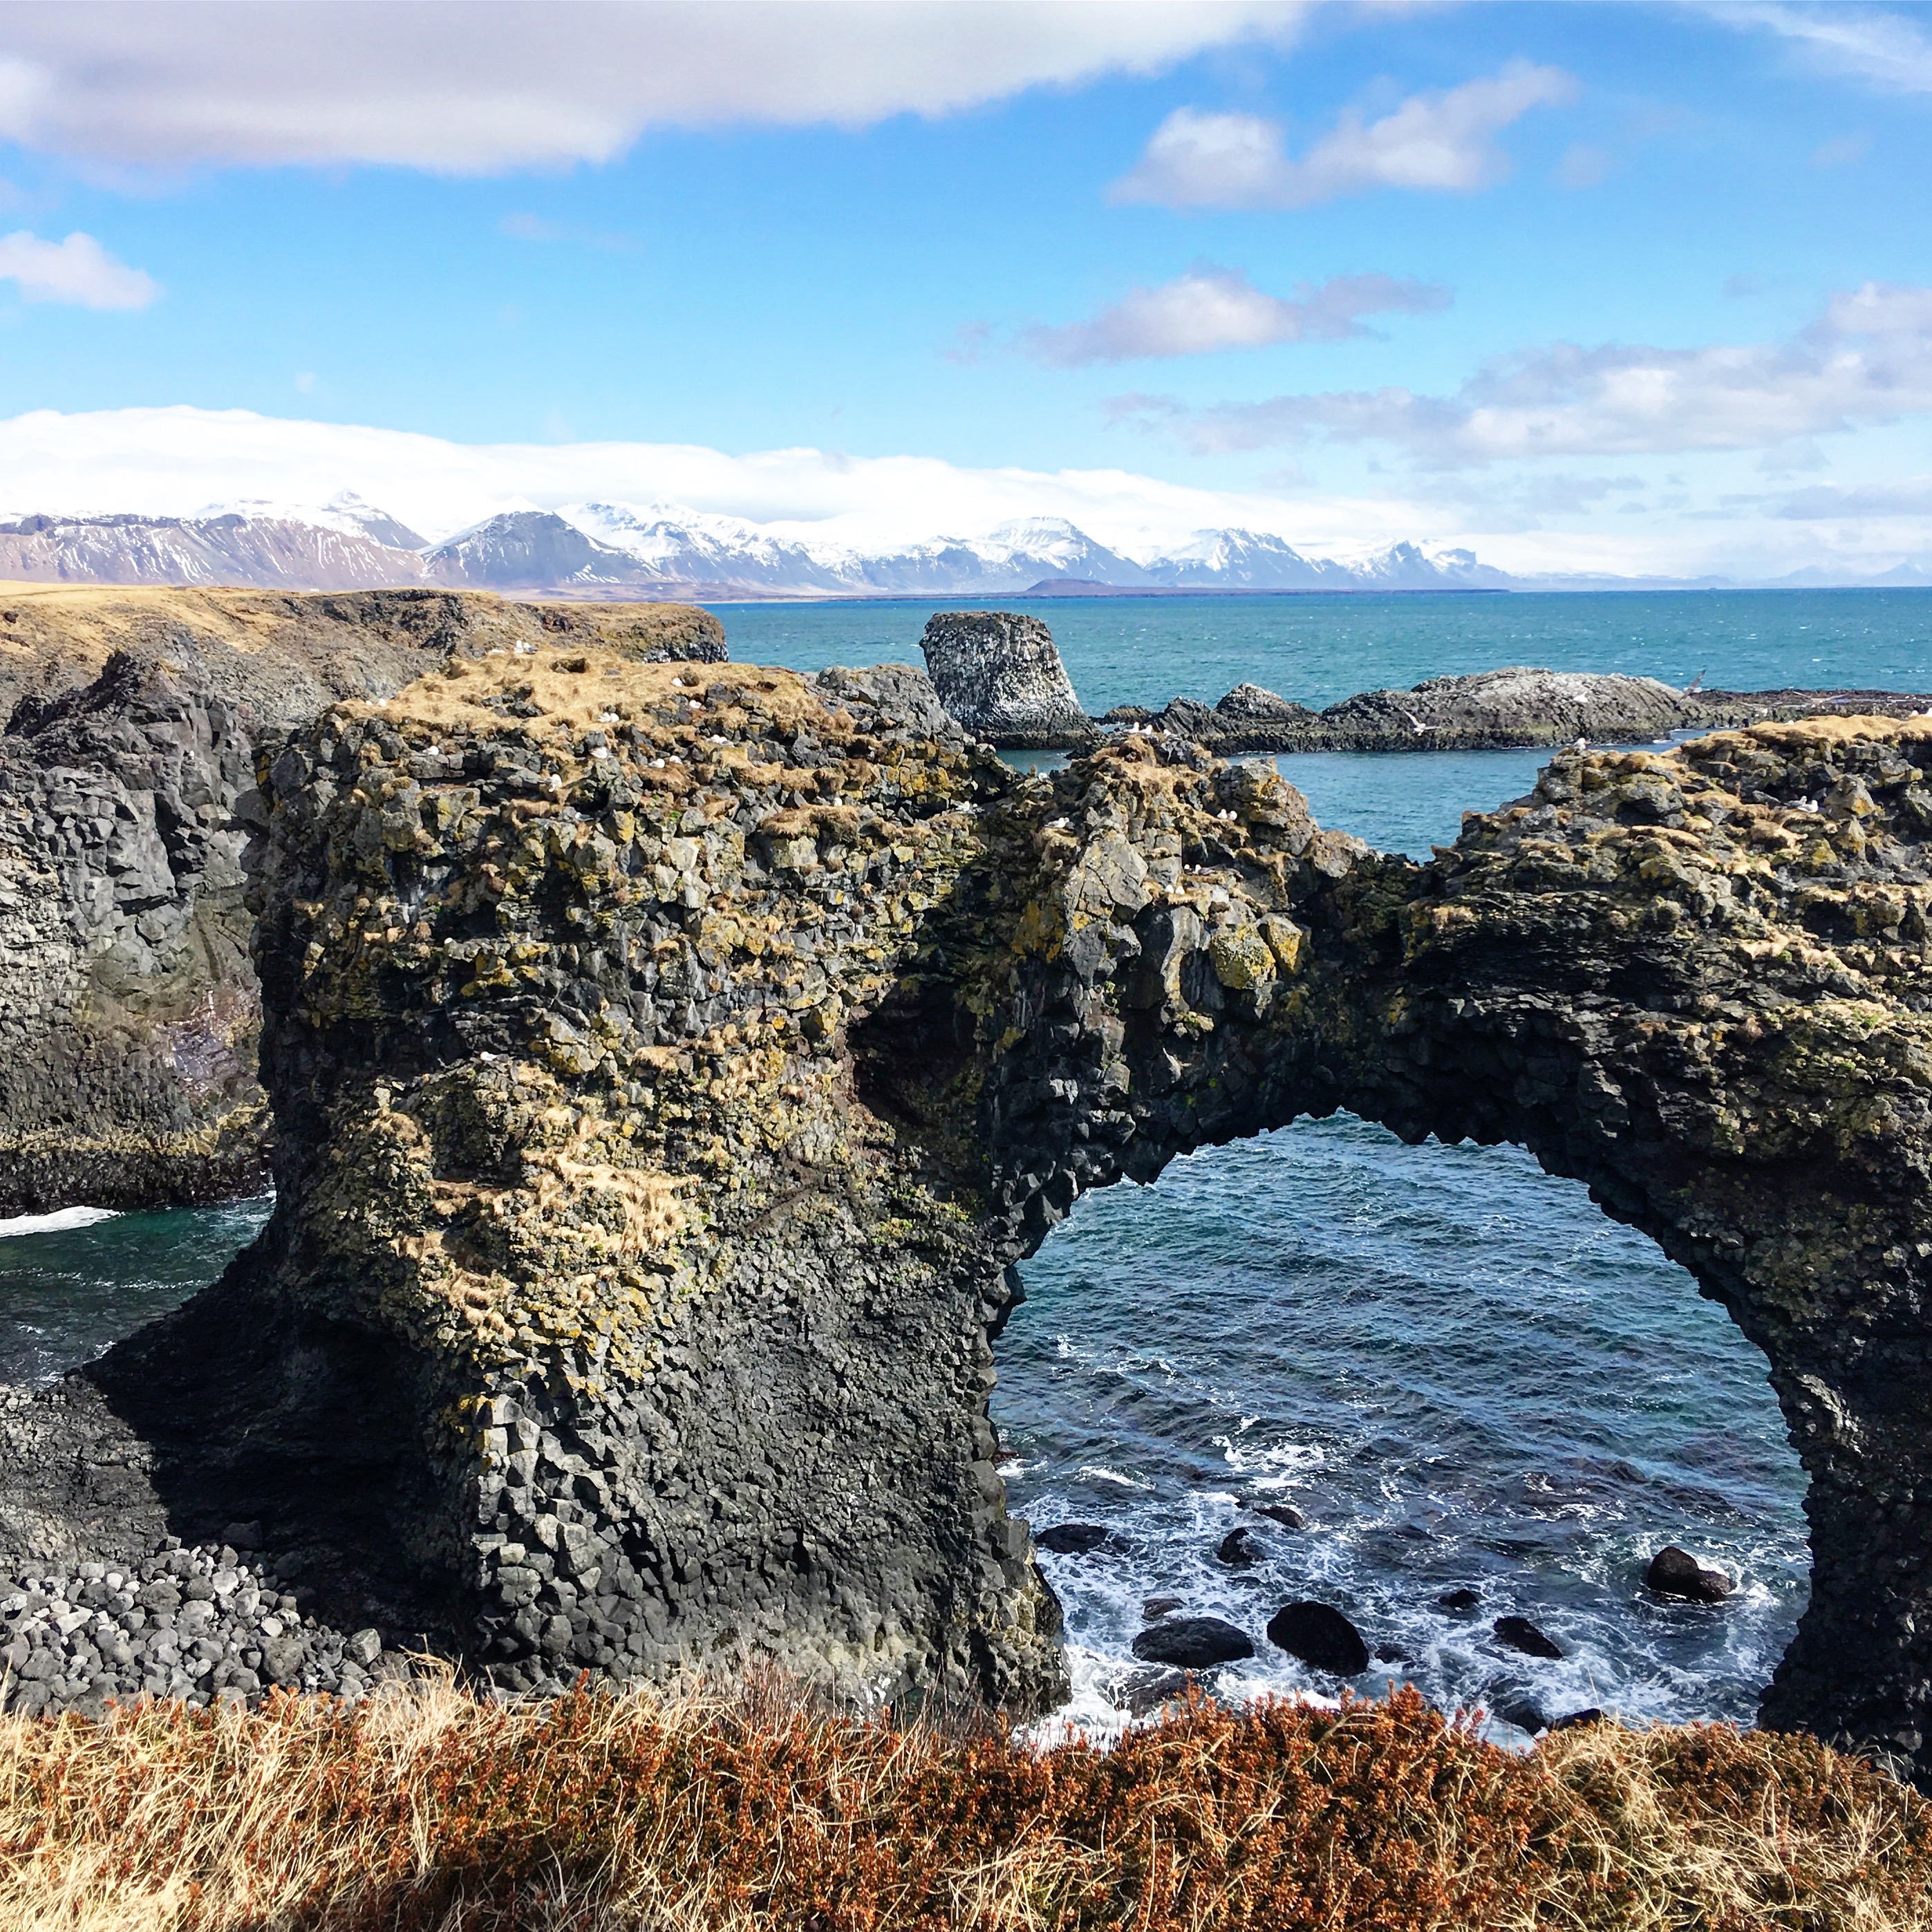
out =
[(1312, 0), (64, 0), (0, 10), (0, 137), (135, 168), (601, 162), (862, 126), (1294, 37)]

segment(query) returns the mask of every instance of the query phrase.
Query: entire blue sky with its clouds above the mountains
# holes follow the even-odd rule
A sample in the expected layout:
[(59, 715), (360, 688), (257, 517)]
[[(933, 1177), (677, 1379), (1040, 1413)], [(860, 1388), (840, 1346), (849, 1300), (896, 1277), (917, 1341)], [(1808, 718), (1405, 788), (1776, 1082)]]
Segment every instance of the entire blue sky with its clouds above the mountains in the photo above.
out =
[(56, 0), (0, 133), (10, 510), (1932, 562), (1926, 8)]

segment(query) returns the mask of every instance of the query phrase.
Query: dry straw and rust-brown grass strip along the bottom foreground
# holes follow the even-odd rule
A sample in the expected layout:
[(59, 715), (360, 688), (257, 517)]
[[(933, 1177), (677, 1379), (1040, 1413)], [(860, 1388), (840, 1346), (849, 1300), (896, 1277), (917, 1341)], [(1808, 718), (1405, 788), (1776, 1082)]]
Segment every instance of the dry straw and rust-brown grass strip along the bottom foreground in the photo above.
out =
[(1414, 1692), (1115, 1750), (769, 1689), (0, 1723), (0, 1932), (1926, 1932), (1932, 1806), (1808, 1739)]

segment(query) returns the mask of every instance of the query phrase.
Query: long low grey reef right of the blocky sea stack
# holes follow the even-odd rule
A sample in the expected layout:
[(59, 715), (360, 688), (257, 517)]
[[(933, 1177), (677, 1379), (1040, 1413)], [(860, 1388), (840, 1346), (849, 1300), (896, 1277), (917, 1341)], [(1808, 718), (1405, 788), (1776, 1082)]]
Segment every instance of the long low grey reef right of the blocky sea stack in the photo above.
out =
[(1646, 744), (1681, 730), (1820, 713), (1905, 717), (1932, 699), (1905, 692), (1679, 692), (1656, 678), (1575, 670), (1480, 670), (1414, 690), (1356, 692), (1312, 711), (1254, 684), (1219, 703), (1175, 697), (1163, 711), (1121, 705), (1103, 724), (1151, 726), (1246, 752), (1501, 752), (1519, 746)]

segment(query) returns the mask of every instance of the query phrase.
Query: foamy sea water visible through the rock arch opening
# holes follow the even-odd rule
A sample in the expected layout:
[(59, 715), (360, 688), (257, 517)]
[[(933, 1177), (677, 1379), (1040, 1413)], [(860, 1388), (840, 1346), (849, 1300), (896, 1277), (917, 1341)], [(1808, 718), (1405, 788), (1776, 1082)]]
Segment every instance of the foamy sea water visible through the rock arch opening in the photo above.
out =
[[(1754, 1719), (1808, 1596), (1804, 1470), (1758, 1349), (1578, 1182), (1515, 1146), (1300, 1121), (1084, 1196), (1022, 1277), (993, 1399), (1009, 1505), (1109, 1530), (1041, 1555), (1068, 1718), (1121, 1721), (1144, 1604), (1179, 1598), (1256, 1642), (1223, 1694), (1333, 1692), (1264, 1634), (1318, 1600), (1368, 1642), (1356, 1689), (1480, 1702), (1497, 1737), (1590, 1706)], [(1242, 1528), (1256, 1561), (1223, 1561)], [(1654, 1598), (1671, 1542), (1737, 1592)], [(1565, 1656), (1511, 1648), (1505, 1615)]]

